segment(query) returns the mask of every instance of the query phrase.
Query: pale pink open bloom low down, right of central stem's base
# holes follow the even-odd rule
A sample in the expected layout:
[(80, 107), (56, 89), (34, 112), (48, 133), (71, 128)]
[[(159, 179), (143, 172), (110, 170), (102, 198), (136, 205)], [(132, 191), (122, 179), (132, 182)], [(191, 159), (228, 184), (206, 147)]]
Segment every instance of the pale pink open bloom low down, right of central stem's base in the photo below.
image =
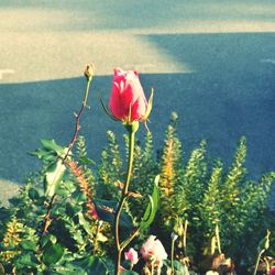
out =
[(160, 265), (162, 265), (163, 260), (167, 260), (165, 249), (155, 235), (150, 235), (147, 241), (143, 243), (141, 254), (145, 261), (153, 258), (158, 262)]

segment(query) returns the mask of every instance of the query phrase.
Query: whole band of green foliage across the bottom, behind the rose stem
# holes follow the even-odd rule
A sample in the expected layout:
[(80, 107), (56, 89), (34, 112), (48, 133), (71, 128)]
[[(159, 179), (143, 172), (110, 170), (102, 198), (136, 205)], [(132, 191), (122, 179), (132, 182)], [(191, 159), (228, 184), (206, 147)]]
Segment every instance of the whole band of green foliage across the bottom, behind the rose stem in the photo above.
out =
[[(219, 160), (209, 162), (205, 141), (183, 160), (177, 123), (173, 113), (158, 158), (151, 133), (138, 141), (130, 193), (120, 219), (122, 238), (141, 231), (131, 244), (140, 248), (145, 234), (157, 232), (168, 252), (174, 231), (179, 237), (175, 274), (186, 273), (182, 264), (186, 255), (198, 266), (211, 253), (213, 238), (220, 238), (222, 252), (237, 264), (240, 260), (254, 263), (258, 240), (267, 228), (275, 229), (274, 216), (266, 207), (275, 173), (263, 175), (260, 182), (248, 180), (244, 138), (229, 169)], [(122, 163), (125, 153), (114, 133), (108, 131), (107, 138), (99, 164), (88, 157), (82, 136), (66, 162), (67, 148), (52, 140), (43, 140), (42, 147), (32, 153), (42, 161), (41, 170), (10, 200), (9, 209), (0, 208), (0, 272), (112, 274), (111, 224), (127, 162)], [(127, 148), (128, 143), (125, 138)], [(188, 224), (187, 232), (184, 224)], [(164, 274), (169, 264), (164, 262)]]

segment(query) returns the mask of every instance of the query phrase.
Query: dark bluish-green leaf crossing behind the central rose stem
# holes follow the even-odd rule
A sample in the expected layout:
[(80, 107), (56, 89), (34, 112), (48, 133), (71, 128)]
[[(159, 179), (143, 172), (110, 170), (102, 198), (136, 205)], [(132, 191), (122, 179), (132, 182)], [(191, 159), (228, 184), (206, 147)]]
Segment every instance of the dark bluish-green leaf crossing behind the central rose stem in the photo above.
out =
[[(96, 206), (96, 211), (99, 219), (112, 223), (118, 204), (116, 201), (98, 199), (98, 198), (94, 199), (92, 201)], [(133, 227), (132, 219), (125, 211), (121, 211), (120, 227), (122, 228)]]

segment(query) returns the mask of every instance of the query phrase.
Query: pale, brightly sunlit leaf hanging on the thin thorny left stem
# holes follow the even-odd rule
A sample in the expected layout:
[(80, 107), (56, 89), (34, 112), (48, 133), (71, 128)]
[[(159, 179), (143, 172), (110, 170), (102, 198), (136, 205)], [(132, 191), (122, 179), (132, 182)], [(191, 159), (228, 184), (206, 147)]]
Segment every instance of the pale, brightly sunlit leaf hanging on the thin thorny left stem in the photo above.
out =
[(52, 197), (56, 193), (65, 170), (66, 166), (61, 160), (47, 168), (44, 186), (45, 196)]

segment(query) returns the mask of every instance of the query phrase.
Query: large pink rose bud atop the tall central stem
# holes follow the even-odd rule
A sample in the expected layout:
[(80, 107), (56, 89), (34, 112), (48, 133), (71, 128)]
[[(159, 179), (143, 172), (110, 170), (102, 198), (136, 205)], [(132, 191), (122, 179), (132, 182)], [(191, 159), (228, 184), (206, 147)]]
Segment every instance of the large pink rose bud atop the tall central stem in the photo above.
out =
[(136, 72), (114, 69), (109, 106), (112, 116), (123, 122), (142, 121), (147, 117), (147, 100)]

